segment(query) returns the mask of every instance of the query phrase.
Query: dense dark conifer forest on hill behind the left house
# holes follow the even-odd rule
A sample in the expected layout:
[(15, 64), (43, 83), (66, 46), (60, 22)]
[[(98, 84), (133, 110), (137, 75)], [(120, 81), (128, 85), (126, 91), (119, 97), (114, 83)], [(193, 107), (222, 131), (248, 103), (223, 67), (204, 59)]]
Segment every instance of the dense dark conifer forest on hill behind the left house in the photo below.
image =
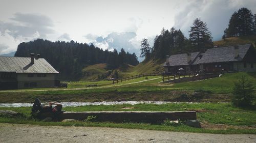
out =
[(106, 63), (106, 69), (116, 69), (123, 64), (136, 66), (139, 64), (135, 53), (125, 52), (122, 49), (119, 53), (102, 50), (94, 45), (86, 43), (52, 42), (37, 39), (30, 42), (23, 42), (18, 45), (14, 56), (30, 56), (30, 53), (39, 53), (57, 71), (58, 79), (79, 80), (83, 77), (82, 69), (89, 65)]

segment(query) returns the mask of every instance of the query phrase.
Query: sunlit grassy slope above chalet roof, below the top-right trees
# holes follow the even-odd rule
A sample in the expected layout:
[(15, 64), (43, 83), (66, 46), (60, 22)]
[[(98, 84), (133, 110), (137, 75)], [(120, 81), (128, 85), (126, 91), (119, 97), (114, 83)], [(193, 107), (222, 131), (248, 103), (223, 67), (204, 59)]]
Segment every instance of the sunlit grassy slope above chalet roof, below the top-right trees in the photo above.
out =
[(230, 46), (252, 43), (256, 47), (256, 36), (245, 36), (245, 37), (230, 37), (225, 40), (214, 41), (215, 46)]

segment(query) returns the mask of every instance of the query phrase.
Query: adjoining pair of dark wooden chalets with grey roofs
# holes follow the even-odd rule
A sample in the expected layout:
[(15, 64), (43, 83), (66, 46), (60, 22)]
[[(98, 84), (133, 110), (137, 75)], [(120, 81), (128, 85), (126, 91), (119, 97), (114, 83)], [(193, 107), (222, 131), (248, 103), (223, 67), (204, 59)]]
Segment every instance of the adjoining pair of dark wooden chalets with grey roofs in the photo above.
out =
[(166, 72), (175, 74), (179, 68), (186, 72), (256, 71), (256, 51), (252, 44), (217, 47), (204, 53), (192, 52), (167, 56), (163, 67)]

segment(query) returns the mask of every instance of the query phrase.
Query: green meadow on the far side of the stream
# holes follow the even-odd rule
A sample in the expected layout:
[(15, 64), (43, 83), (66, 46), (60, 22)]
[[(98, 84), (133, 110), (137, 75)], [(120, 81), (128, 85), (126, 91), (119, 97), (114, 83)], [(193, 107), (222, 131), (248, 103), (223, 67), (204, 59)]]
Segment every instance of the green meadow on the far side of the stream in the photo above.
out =
[[(56, 91), (36, 91), (38, 89), (20, 92), (2, 91), (0, 101), (6, 103), (33, 102), (35, 97), (42, 98), (46, 102), (185, 101), (179, 99), (185, 95), (190, 98), (188, 101), (226, 102), (230, 101), (233, 82), (243, 75), (251, 80), (254, 86), (256, 85), (255, 72), (226, 73), (217, 78), (175, 84), (159, 83), (162, 80), (161, 76), (148, 76), (147, 79), (141, 77), (114, 85), (112, 81), (70, 82), (69, 89), (56, 89)], [(97, 86), (87, 87), (93, 84)], [(75, 88), (83, 89), (76, 90)], [(198, 91), (200, 91), (202, 100), (193, 97)]]

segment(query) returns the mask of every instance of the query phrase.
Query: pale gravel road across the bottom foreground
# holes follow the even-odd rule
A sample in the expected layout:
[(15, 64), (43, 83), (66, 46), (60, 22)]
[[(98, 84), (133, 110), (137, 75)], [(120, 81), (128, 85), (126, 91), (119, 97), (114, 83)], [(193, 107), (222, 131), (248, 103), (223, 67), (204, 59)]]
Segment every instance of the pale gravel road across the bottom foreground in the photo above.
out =
[(0, 124), (0, 142), (256, 142), (252, 134)]

